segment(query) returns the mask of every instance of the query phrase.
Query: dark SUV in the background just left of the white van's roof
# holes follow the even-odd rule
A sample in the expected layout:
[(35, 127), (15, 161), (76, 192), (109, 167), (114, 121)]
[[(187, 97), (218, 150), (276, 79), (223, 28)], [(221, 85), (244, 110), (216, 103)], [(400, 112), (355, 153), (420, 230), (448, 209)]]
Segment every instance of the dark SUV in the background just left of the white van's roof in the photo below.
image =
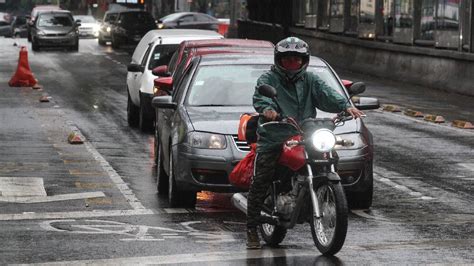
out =
[(110, 24), (110, 41), (114, 48), (127, 44), (137, 45), (148, 31), (157, 28), (153, 16), (145, 11), (119, 12)]

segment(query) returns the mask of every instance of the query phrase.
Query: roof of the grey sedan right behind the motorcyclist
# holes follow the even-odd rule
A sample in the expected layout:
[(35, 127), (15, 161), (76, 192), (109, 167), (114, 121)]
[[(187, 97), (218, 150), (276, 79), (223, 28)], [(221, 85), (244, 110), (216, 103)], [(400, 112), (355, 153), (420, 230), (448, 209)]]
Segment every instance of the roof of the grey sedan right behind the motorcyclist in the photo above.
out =
[[(255, 53), (222, 53), (201, 55), (201, 65), (259, 65), (273, 64), (273, 54)], [(328, 65), (321, 58), (311, 56), (309, 65), (312, 67), (327, 67)]]

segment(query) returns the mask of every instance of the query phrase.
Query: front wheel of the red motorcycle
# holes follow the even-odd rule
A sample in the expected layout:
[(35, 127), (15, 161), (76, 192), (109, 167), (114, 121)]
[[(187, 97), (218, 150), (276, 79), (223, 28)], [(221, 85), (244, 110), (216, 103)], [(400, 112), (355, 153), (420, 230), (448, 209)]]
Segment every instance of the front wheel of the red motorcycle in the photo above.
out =
[(340, 183), (330, 181), (314, 185), (321, 210), (318, 219), (311, 215), (313, 241), (323, 255), (334, 255), (341, 250), (347, 233), (347, 201)]

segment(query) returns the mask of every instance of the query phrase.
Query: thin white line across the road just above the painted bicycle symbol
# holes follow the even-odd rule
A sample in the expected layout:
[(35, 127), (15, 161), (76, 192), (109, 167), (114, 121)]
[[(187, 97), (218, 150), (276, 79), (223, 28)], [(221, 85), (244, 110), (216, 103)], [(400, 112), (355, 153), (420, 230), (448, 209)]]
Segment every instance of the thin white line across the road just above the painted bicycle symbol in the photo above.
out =
[(0, 214), (0, 221), (19, 220), (46, 220), (46, 219), (71, 219), (71, 218), (92, 218), (92, 217), (116, 217), (150, 215), (153, 211), (143, 210), (93, 210), (93, 211), (69, 211), (69, 212), (24, 212), (24, 213), (4, 213)]

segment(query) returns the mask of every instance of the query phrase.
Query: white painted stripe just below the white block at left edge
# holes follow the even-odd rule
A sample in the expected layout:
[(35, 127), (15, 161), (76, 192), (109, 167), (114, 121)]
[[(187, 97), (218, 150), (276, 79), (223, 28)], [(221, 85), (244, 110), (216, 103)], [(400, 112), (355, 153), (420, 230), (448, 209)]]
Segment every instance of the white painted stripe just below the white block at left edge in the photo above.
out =
[(97, 191), (97, 192), (61, 194), (61, 195), (54, 195), (54, 196), (0, 197), (0, 201), (13, 202), (13, 203), (41, 203), (41, 202), (54, 202), (54, 201), (103, 198), (103, 197), (105, 197), (104, 192)]

